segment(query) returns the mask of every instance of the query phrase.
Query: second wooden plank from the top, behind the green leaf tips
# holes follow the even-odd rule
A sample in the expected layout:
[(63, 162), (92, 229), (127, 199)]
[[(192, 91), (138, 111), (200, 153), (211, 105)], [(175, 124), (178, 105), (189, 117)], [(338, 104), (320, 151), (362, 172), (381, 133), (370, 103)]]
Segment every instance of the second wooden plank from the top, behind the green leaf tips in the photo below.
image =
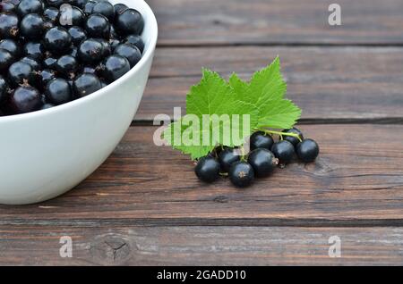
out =
[(287, 97), (302, 107), (304, 120), (402, 120), (403, 48), (262, 46), (158, 49), (135, 120), (184, 108), (201, 66), (249, 79), (278, 54)]

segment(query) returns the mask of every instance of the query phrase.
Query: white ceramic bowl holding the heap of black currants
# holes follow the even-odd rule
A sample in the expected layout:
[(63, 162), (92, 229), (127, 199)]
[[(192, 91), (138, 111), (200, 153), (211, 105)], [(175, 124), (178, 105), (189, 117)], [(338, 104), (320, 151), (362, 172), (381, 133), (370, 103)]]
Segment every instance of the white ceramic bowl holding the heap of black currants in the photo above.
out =
[(129, 128), (157, 44), (154, 13), (143, 0), (110, 0), (141, 12), (141, 61), (98, 92), (35, 113), (0, 117), (0, 204), (38, 203), (74, 188), (95, 171)]

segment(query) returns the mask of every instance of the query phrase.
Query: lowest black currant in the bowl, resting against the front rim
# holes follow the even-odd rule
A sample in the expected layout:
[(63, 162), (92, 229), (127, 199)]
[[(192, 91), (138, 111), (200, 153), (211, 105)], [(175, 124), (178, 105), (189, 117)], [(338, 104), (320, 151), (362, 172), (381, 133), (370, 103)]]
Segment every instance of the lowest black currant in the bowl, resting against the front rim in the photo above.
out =
[(42, 106), (39, 91), (30, 86), (16, 88), (10, 97), (10, 107), (14, 113), (30, 113), (38, 111)]

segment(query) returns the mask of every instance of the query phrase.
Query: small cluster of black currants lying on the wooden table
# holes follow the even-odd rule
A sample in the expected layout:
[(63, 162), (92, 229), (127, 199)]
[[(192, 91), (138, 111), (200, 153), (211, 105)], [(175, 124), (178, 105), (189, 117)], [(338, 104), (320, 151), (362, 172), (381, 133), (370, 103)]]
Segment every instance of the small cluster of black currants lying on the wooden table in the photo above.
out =
[[(272, 131), (274, 132), (274, 131)], [(251, 152), (242, 155), (240, 149), (217, 147), (210, 155), (202, 157), (195, 168), (197, 177), (213, 182), (220, 175), (228, 175), (238, 188), (245, 188), (255, 178), (270, 176), (277, 165), (290, 163), (295, 156), (303, 163), (312, 163), (319, 155), (319, 146), (313, 139), (304, 139), (299, 129), (279, 133), (275, 142), (268, 132), (254, 132), (250, 138)]]

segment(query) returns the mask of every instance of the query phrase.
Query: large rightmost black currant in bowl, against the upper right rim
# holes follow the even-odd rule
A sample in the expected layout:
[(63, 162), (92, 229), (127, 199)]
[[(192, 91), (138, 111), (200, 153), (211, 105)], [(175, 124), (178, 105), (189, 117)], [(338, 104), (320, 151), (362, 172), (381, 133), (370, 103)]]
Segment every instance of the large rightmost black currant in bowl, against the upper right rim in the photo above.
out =
[(144, 29), (141, 13), (134, 9), (126, 9), (116, 19), (116, 31), (122, 36), (140, 35)]

